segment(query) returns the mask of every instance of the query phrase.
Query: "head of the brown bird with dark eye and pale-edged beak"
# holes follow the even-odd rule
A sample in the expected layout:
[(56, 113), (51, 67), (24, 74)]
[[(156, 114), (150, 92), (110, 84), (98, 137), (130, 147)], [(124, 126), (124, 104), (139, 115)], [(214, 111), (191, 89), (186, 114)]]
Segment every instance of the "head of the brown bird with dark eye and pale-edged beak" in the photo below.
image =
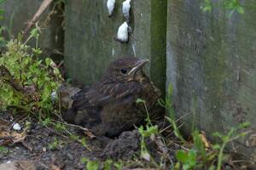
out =
[(116, 59), (108, 67), (107, 75), (112, 82), (142, 82), (146, 78), (143, 67), (148, 61), (135, 57)]

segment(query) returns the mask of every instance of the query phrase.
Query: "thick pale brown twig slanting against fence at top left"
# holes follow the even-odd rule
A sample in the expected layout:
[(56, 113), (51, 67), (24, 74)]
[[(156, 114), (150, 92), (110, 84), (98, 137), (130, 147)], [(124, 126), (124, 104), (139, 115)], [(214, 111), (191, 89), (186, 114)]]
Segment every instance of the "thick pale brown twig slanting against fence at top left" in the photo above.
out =
[(50, 3), (52, 3), (53, 0), (44, 0), (43, 3), (41, 3), (40, 7), (38, 8), (38, 11), (36, 14), (34, 14), (32, 20), (30, 20), (26, 26), (25, 34), (27, 31), (31, 29), (31, 27), (37, 22), (38, 18), (41, 14), (44, 13), (44, 10), (49, 6)]

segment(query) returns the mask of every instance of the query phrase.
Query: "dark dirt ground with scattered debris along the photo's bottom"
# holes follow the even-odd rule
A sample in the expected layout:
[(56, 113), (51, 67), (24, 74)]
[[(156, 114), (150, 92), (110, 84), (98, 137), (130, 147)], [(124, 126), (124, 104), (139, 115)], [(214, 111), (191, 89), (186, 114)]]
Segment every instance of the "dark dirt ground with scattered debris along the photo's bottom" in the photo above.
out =
[[(26, 122), (31, 122), (29, 127)], [(20, 131), (13, 129), (14, 122), (21, 125)], [(58, 130), (54, 126), (45, 126), (36, 119), (27, 116), (13, 116), (6, 112), (0, 112), (0, 170), (1, 164), (12, 161), (32, 161), (36, 169), (86, 169), (82, 158), (92, 161), (104, 162), (112, 160), (121, 162), (121, 169), (136, 169), (156, 166), (152, 162), (140, 159), (141, 136), (137, 129), (123, 132), (115, 139), (107, 137), (94, 137), (90, 133), (84, 133), (80, 128), (67, 126), (68, 133), (79, 139), (85, 138), (86, 142), (73, 139), (67, 132)], [(26, 133), (22, 133), (26, 132)], [(9, 137), (12, 136), (14, 139)], [(169, 133), (169, 132), (168, 132)], [(160, 136), (155, 139), (147, 139), (147, 148), (154, 157), (154, 161), (162, 162), (162, 169), (170, 169), (170, 164), (175, 163), (175, 153), (183, 149), (182, 145), (173, 142), (174, 135), (166, 138), (166, 143), (162, 144)], [(164, 158), (164, 159), (162, 159)], [(101, 163), (103, 165), (103, 163)], [(19, 169), (19, 168), (18, 168)], [(21, 168), (20, 168), (21, 169)], [(28, 168), (25, 168), (28, 169)], [(103, 169), (103, 166), (100, 166)], [(111, 169), (118, 169), (111, 167)], [(233, 168), (230, 164), (224, 165), (224, 169), (252, 169), (253, 167)]]

